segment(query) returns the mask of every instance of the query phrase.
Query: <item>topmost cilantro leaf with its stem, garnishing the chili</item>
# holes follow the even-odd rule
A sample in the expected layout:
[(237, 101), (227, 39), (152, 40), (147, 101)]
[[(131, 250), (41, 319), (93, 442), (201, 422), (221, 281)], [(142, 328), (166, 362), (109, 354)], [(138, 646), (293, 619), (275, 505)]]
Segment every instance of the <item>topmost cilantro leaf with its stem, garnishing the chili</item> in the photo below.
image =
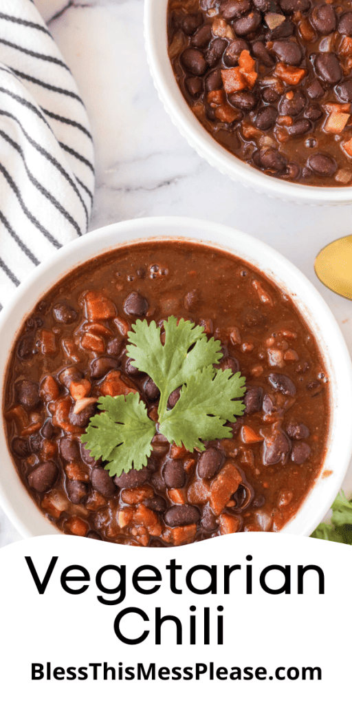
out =
[[(127, 353), (134, 367), (149, 374), (161, 393), (158, 414), (162, 420), (172, 391), (182, 386), (189, 377), (222, 357), (221, 343), (206, 337), (202, 326), (170, 316), (164, 323), (165, 343), (155, 321), (136, 321), (128, 334)], [(193, 346), (193, 347), (192, 347)]]

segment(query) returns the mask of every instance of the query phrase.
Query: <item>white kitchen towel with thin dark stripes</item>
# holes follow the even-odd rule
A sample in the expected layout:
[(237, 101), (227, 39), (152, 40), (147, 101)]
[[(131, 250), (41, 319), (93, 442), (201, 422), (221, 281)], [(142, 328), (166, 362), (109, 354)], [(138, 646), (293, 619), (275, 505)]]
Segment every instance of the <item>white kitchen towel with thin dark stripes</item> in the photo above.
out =
[(84, 104), (32, 0), (0, 0), (0, 307), (87, 231), (94, 152)]

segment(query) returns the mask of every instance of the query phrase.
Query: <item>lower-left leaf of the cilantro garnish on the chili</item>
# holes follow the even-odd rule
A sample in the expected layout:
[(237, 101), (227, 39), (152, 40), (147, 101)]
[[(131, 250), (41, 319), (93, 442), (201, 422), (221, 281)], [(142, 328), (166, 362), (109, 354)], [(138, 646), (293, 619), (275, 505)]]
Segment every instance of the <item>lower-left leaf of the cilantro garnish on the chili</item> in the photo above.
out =
[(132, 467), (142, 470), (151, 454), (151, 439), (156, 432), (146, 407), (138, 394), (105, 396), (99, 398), (99, 409), (87, 431), (81, 436), (93, 457), (107, 460), (111, 477), (120, 477)]

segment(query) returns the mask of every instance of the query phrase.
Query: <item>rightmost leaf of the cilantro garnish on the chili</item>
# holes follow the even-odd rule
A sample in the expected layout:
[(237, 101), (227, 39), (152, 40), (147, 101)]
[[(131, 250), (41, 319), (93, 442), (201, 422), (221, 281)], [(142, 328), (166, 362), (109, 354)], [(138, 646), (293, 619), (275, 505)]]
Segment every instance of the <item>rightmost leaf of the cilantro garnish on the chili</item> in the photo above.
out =
[(243, 415), (244, 377), (230, 369), (215, 370), (212, 365), (199, 369), (182, 386), (180, 399), (165, 414), (159, 431), (170, 443), (184, 444), (187, 450), (204, 450), (202, 441), (232, 437), (227, 421)]

